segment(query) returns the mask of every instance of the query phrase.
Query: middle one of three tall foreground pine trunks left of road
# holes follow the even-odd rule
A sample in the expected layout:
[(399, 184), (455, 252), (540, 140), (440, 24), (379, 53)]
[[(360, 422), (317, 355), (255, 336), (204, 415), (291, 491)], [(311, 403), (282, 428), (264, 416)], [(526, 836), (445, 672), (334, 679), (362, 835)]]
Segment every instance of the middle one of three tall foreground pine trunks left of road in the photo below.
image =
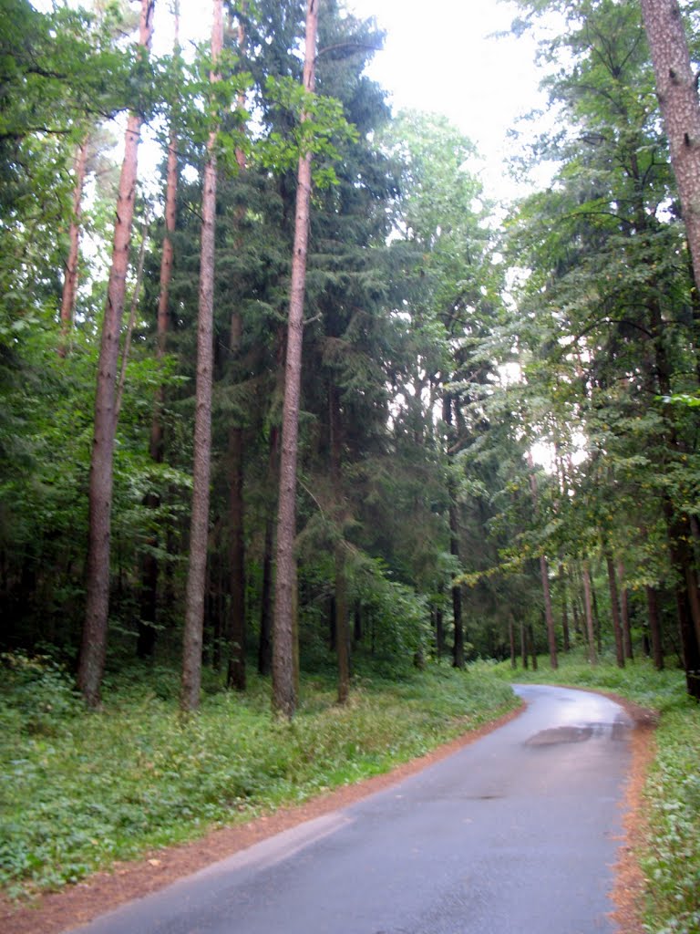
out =
[[(223, 0), (214, 0), (212, 61), (216, 64), (223, 46)], [(219, 76), (212, 72), (210, 80)], [(207, 143), (202, 191), (202, 249), (200, 260), (199, 316), (197, 328), (197, 387), (194, 416), (194, 469), (192, 514), (189, 526), (189, 570), (183, 636), (183, 710), (199, 707), (202, 683), (202, 643), (206, 556), (209, 537), (209, 474), (212, 434), (212, 376), (214, 368), (214, 260), (217, 216), (217, 134)]]

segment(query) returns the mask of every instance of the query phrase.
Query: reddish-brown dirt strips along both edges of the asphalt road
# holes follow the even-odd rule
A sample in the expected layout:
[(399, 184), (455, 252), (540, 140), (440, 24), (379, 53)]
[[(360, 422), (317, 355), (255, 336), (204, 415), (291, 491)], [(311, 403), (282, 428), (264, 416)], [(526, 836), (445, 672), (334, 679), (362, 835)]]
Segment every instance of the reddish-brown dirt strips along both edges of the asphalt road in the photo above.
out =
[[(614, 700), (623, 705), (635, 723), (640, 723), (644, 716), (649, 714), (640, 714), (640, 708), (635, 712), (634, 705), (621, 698)], [(139, 860), (117, 863), (109, 871), (97, 872), (76, 885), (42, 895), (31, 904), (18, 905), (7, 899), (0, 899), (0, 930), (6, 934), (58, 934), (60, 931), (85, 925), (98, 914), (117, 908), (126, 901), (143, 898), (175, 882), (176, 879), (245, 850), (282, 830), (322, 814), (343, 809), (376, 791), (395, 785), (408, 775), (425, 769), (433, 762), (503, 726), (519, 713), (520, 709), (512, 711), (384, 775), (375, 775), (357, 785), (337, 788), (304, 804), (280, 808), (272, 814), (264, 814), (245, 824), (212, 830), (199, 840), (153, 851)], [(653, 757), (652, 735), (647, 723), (645, 726), (637, 726), (632, 737), (633, 763), (624, 801), (625, 833), (621, 841), (620, 861), (615, 867), (616, 884), (613, 892), (616, 905), (613, 917), (620, 925), (621, 934), (642, 934), (636, 910), (643, 879), (634, 860), (633, 848), (639, 823), (637, 814), (641, 806), (644, 776)]]

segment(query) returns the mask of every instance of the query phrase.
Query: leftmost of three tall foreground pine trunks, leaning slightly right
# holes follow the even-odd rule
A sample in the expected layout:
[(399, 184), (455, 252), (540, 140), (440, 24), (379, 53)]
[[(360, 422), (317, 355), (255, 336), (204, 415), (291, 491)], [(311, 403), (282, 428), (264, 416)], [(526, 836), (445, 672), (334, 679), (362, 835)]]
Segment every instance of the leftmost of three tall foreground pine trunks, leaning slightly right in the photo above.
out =
[[(150, 48), (153, 33), (153, 7), (154, 0), (142, 0), (139, 54), (143, 57), (147, 56)], [(105, 318), (97, 369), (89, 490), (88, 581), (85, 623), (77, 669), (77, 684), (83, 697), (91, 706), (96, 706), (100, 702), (100, 687), (105, 671), (119, 329), (124, 313), (126, 274), (129, 267), (129, 244), (132, 235), (133, 206), (136, 199), (141, 123), (140, 114), (130, 114), (124, 141), (124, 160), (119, 177), (112, 265), (107, 285)]]

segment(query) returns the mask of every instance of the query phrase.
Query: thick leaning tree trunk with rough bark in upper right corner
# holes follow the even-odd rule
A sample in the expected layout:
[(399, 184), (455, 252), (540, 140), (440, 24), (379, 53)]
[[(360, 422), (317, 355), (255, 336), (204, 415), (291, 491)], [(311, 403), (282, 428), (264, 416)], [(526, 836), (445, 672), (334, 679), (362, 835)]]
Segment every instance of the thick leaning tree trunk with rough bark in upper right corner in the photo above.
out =
[(700, 282), (700, 101), (678, 0), (641, 0), (656, 91), (679, 188), (680, 207)]

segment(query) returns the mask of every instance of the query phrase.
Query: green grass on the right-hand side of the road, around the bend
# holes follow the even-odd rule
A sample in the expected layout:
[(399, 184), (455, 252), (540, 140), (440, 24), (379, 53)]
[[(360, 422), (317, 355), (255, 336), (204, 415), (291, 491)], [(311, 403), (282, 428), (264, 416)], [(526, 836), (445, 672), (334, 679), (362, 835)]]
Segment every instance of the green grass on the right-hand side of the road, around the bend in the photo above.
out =
[(637, 853), (646, 879), (645, 928), (650, 934), (700, 934), (700, 704), (685, 693), (682, 672), (656, 672), (640, 659), (619, 669), (581, 655), (547, 658), (539, 670), (491, 667), (513, 682), (540, 682), (610, 691), (659, 712), (657, 754), (645, 788), (648, 833)]

